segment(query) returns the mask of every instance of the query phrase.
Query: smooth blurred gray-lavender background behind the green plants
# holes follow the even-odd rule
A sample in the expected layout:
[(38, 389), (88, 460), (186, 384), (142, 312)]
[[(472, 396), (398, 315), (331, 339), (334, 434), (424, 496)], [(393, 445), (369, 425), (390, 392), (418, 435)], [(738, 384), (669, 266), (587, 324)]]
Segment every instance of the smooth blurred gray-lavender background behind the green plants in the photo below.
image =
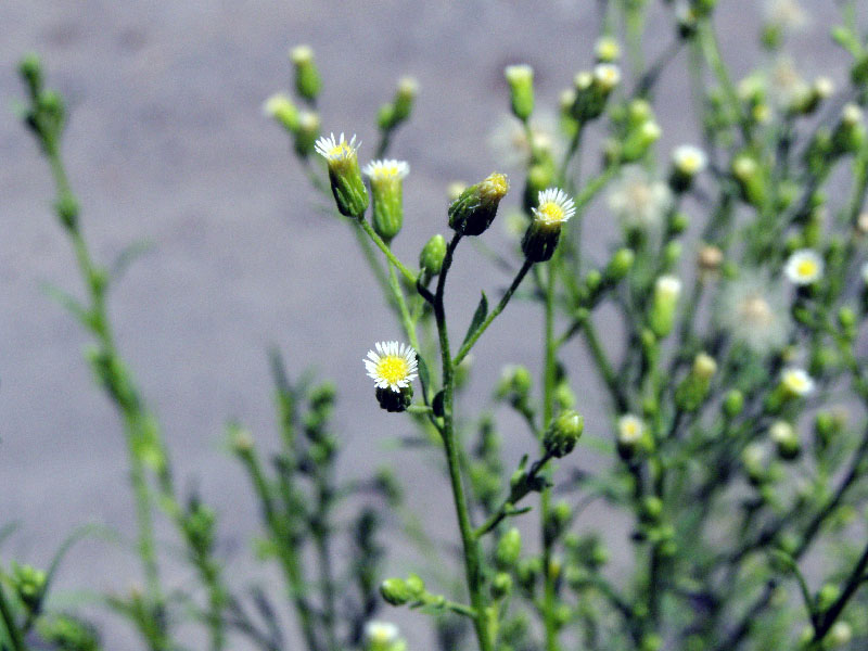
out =
[[(737, 77), (761, 64), (761, 5), (720, 2), (717, 21)], [(814, 14), (792, 41), (803, 74), (843, 80), (844, 59), (827, 36), (833, 3), (803, 5)], [(378, 106), (391, 99), (399, 76), (419, 79), (417, 111), (392, 149), (411, 165), (406, 226), (395, 247), (413, 263), (424, 241), (447, 229), (447, 183), (473, 182), (496, 167), (486, 142), (508, 107), (503, 66), (531, 63), (537, 105), (553, 111), (560, 90), (591, 62), (597, 10), (591, 0), (0, 2), (0, 524), (21, 521), (1, 558), (44, 565), (82, 523), (132, 535), (124, 441), (81, 358), (88, 340), (41, 289), (81, 288), (50, 212), (47, 166), (15, 116), (22, 53), (39, 52), (49, 85), (68, 99), (64, 154), (97, 255), (110, 261), (132, 242), (153, 244), (112, 295), (120, 349), (161, 418), (179, 485), (199, 487), (217, 508), (221, 553), (232, 583), (242, 586), (271, 580), (276, 572), (250, 560), (258, 513), (224, 449), (224, 425), (238, 419), (263, 446), (273, 446), (270, 344), (280, 346), (294, 374), (314, 367), (337, 383), (345, 472), (393, 465), (411, 508), (436, 535), (456, 539), (447, 485), (418, 452), (390, 447), (408, 423), (378, 409), (361, 365), (373, 342), (403, 339), (400, 331), (349, 228), (314, 209), (288, 138), (261, 115), (265, 98), (291, 88), (289, 47), (314, 47), (324, 80), (323, 130), (358, 133), (362, 162), (376, 141)], [(649, 58), (671, 40), (668, 18), (655, 7)], [(658, 93), (661, 159), (695, 140), (684, 64), (681, 54)], [(596, 165), (596, 151), (585, 161), (586, 169)], [(520, 195), (514, 178), (510, 205)], [(602, 259), (615, 232), (599, 202), (587, 216), (586, 251)], [(510, 254), (502, 228), (484, 239)], [(448, 307), (461, 331), (480, 289), (496, 297), (509, 277), (469, 245), (454, 269)], [(475, 352), (478, 403), (505, 363), (539, 367), (540, 326), (537, 309), (514, 304), (492, 327)], [(602, 395), (582, 371), (578, 342), (565, 359), (589, 431), (604, 435)], [(509, 462), (533, 452), (520, 423), (509, 416), (502, 422)], [(583, 463), (583, 455), (569, 463)], [(595, 523), (589, 511), (580, 526)], [(610, 531), (608, 539), (616, 561), (627, 562), (623, 534)], [(394, 552), (390, 567), (405, 572), (411, 554)], [(129, 554), (86, 541), (63, 565), (58, 601), (78, 600), (82, 589), (127, 590), (137, 576)], [(170, 585), (186, 579), (169, 570)], [(106, 622), (108, 648), (137, 648), (116, 618), (94, 612)], [(384, 615), (407, 627), (413, 648), (427, 648), (422, 615)]]

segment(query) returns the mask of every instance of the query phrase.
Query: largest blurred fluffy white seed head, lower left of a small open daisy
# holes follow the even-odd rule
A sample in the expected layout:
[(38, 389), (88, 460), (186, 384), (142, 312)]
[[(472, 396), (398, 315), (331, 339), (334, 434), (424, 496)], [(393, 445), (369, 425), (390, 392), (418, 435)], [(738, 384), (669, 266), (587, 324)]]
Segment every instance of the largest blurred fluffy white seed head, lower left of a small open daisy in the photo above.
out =
[(742, 272), (723, 289), (716, 305), (722, 330), (765, 355), (781, 349), (790, 334), (787, 292), (779, 282), (758, 272)]

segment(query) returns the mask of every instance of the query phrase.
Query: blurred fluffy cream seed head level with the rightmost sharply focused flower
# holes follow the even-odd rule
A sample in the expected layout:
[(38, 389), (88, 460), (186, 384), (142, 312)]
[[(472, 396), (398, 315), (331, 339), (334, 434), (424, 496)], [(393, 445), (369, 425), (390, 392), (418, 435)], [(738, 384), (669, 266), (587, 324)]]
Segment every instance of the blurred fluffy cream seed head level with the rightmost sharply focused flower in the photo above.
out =
[(629, 229), (652, 230), (661, 226), (673, 205), (672, 190), (662, 181), (651, 180), (638, 165), (627, 165), (612, 184), (609, 208)]

